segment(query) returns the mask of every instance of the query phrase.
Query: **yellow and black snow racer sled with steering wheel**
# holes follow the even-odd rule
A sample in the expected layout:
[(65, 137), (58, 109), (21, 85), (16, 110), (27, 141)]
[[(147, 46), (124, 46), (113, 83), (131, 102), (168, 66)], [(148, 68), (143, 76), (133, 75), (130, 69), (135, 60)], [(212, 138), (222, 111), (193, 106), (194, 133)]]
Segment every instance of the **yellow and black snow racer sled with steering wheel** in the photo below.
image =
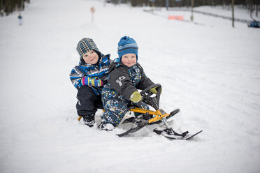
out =
[[(150, 89), (157, 88), (157, 94), (154, 94), (150, 92)], [(170, 114), (164, 112), (164, 110), (159, 108), (159, 99), (161, 96), (161, 84), (153, 84), (150, 87), (147, 87), (143, 91), (140, 92), (140, 95), (143, 97), (143, 102), (147, 103), (147, 105), (150, 105), (154, 108), (154, 110), (145, 110), (142, 108), (139, 108), (138, 105), (140, 103), (134, 103), (133, 105), (129, 105), (129, 111), (130, 112), (136, 112), (140, 113), (140, 116), (133, 116), (129, 119), (124, 120), (122, 123), (134, 123), (137, 126), (135, 128), (130, 128), (124, 133), (117, 134), (119, 137), (124, 137), (127, 135), (130, 135), (132, 133), (135, 133), (136, 131), (140, 130), (141, 128), (152, 125), (152, 124), (161, 124), (163, 123), (163, 126), (158, 126), (157, 128), (154, 128), (154, 133), (157, 133), (158, 135), (163, 135), (168, 140), (190, 140), (195, 135), (198, 135), (198, 133), (201, 133), (202, 130), (198, 131), (197, 133), (194, 133), (192, 135), (189, 134), (189, 131), (185, 131), (184, 133), (177, 133), (168, 125), (167, 119), (170, 119), (172, 116), (180, 112), (179, 109), (173, 110)], [(82, 117), (79, 116), (78, 121), (80, 121)]]

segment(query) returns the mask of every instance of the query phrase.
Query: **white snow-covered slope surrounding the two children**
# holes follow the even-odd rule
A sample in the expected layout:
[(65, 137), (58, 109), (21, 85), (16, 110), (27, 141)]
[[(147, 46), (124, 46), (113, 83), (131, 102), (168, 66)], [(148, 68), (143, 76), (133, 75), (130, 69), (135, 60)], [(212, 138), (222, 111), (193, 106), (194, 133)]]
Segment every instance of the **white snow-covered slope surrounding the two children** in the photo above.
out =
[[(198, 24), (167, 20), (190, 14), (143, 9), (32, 0), (22, 26), (18, 13), (0, 17), (0, 172), (260, 172), (260, 29), (200, 14)], [(180, 108), (173, 128), (203, 130), (194, 140), (169, 141), (152, 127), (120, 138), (124, 127), (108, 133), (77, 121), (68, 75), (78, 41), (93, 38), (114, 59), (125, 35), (163, 87), (161, 108)]]

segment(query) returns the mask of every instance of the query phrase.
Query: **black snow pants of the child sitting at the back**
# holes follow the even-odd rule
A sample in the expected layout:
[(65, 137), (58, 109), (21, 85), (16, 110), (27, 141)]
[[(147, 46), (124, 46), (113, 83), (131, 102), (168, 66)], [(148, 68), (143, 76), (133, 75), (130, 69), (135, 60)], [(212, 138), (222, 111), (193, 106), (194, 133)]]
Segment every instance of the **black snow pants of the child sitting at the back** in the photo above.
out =
[(101, 95), (97, 96), (93, 89), (84, 85), (78, 89), (78, 103), (76, 105), (78, 116), (94, 116), (97, 109), (103, 109)]

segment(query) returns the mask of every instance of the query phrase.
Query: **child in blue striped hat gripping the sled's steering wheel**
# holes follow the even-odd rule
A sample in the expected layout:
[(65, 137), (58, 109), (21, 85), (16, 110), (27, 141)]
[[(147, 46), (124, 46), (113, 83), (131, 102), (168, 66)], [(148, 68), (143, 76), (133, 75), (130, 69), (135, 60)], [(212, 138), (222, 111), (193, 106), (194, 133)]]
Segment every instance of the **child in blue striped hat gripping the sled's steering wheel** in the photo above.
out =
[[(101, 116), (101, 130), (113, 130), (127, 113), (127, 105), (142, 100), (138, 89), (150, 87), (152, 82), (146, 77), (138, 61), (138, 45), (133, 38), (124, 36), (117, 48), (118, 58), (110, 66), (108, 83), (103, 87), (102, 102), (105, 112)], [(152, 93), (157, 90), (151, 89)], [(140, 102), (139, 107), (148, 109), (148, 105)]]

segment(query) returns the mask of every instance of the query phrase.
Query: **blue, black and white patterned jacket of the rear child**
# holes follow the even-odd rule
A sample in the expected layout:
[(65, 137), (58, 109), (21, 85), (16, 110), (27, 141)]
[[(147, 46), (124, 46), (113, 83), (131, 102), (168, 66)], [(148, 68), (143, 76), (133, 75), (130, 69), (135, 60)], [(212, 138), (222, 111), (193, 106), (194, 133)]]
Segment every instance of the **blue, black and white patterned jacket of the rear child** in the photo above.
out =
[(109, 66), (110, 54), (106, 56), (101, 54), (101, 59), (99, 59), (97, 65), (80, 61), (79, 65), (71, 70), (71, 82), (76, 89), (88, 85), (92, 87), (96, 95), (100, 95), (103, 85), (106, 84)]

